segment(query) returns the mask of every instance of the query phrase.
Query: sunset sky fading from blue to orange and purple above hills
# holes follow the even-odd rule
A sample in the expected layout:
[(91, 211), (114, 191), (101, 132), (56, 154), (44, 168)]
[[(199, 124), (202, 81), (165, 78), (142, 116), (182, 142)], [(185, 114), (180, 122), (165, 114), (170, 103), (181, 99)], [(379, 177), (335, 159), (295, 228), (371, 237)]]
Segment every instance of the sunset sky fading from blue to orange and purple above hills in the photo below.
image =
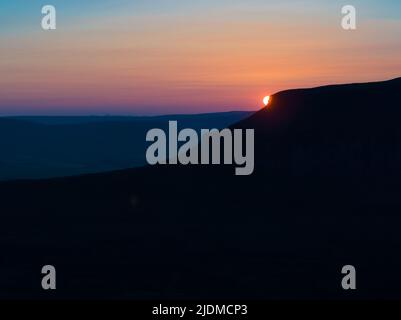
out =
[(285, 89), (400, 76), (400, 0), (0, 2), (0, 115), (257, 110)]

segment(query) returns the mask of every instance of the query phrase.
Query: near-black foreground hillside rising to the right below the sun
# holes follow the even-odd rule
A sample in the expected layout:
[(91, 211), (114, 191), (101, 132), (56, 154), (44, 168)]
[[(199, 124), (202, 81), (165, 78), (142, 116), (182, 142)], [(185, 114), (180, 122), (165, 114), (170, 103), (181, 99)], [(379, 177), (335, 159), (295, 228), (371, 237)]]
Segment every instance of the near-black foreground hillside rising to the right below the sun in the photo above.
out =
[[(401, 79), (290, 90), (235, 127), (256, 166), (0, 184), (0, 296), (399, 298)], [(40, 290), (55, 265), (58, 289)], [(357, 269), (357, 290), (341, 268)]]

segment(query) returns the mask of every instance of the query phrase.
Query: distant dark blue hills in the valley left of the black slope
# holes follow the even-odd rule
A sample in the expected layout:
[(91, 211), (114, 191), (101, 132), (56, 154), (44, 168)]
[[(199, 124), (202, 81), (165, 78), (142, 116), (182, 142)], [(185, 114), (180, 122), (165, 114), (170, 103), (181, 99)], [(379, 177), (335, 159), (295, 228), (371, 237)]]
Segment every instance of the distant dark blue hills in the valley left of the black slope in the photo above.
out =
[(224, 128), (251, 112), (155, 117), (0, 117), (0, 180), (49, 178), (144, 165), (146, 132)]

